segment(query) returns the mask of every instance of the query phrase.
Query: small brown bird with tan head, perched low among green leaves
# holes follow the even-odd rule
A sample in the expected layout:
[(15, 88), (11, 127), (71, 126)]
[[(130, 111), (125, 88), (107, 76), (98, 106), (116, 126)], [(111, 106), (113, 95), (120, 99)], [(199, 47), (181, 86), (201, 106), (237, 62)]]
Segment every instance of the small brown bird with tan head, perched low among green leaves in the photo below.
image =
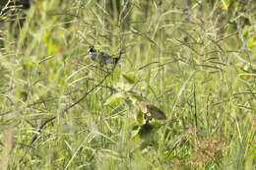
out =
[(167, 117), (165, 116), (164, 112), (161, 111), (158, 107), (147, 104), (145, 102), (140, 102), (139, 107), (141, 108), (142, 112), (146, 114), (149, 118), (155, 118), (159, 120), (165, 120)]

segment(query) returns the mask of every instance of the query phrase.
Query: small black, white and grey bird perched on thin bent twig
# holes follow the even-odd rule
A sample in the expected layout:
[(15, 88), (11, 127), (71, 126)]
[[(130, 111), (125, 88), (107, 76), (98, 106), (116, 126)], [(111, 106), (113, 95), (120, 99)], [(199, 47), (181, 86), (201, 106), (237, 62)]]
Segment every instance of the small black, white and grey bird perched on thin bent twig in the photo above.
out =
[(99, 62), (102, 65), (107, 63), (117, 64), (120, 58), (112, 58), (109, 55), (101, 51), (96, 51), (94, 46), (90, 46), (88, 49), (89, 56), (92, 60)]

